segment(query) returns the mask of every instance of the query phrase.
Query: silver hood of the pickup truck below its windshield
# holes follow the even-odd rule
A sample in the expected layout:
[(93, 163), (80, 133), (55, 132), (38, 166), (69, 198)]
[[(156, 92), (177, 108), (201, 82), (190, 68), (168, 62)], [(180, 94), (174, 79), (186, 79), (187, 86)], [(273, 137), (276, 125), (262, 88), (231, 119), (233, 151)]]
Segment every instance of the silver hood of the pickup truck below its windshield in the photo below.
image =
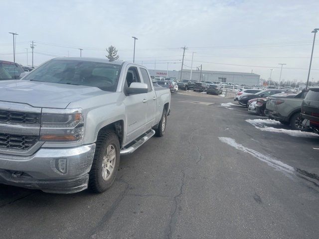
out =
[(66, 108), (71, 102), (105, 92), (97, 87), (24, 80), (0, 81), (0, 101), (24, 103), (40, 108)]

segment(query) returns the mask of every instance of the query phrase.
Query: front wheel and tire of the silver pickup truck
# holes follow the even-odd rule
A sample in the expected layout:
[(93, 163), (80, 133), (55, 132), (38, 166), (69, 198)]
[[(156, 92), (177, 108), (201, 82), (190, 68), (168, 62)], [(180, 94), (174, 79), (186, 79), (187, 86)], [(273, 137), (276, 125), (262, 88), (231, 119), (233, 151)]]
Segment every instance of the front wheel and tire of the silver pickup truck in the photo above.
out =
[[(114, 158), (112, 152), (115, 154)], [(103, 193), (109, 189), (115, 180), (119, 164), (119, 138), (112, 130), (104, 131), (96, 142), (94, 159), (89, 173), (90, 189), (95, 193)]]

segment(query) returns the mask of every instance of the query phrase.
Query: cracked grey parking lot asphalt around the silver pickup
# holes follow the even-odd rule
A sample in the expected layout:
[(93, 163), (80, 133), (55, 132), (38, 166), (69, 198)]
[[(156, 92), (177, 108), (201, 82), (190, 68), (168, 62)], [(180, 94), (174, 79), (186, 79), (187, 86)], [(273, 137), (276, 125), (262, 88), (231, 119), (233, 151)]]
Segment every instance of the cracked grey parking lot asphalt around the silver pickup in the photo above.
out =
[(0, 238), (318, 239), (319, 137), (199, 94), (172, 95), (165, 135), (121, 157), (103, 194), (0, 185)]

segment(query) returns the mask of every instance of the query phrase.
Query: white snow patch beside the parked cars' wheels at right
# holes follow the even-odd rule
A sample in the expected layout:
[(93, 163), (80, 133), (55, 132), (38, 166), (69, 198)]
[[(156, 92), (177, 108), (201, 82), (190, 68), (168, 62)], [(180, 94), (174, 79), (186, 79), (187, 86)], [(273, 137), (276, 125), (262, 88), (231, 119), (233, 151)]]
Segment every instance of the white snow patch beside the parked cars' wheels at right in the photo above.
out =
[(273, 120), (273, 119), (246, 119), (246, 122), (254, 125), (256, 128), (262, 131), (269, 131), (269, 132), (277, 132), (277, 133), (286, 133), (291, 136), (296, 137), (319, 137), (319, 134), (312, 133), (312, 132), (304, 132), (300, 130), (291, 130), (285, 128), (274, 128), (267, 125), (281, 125), (281, 122)]

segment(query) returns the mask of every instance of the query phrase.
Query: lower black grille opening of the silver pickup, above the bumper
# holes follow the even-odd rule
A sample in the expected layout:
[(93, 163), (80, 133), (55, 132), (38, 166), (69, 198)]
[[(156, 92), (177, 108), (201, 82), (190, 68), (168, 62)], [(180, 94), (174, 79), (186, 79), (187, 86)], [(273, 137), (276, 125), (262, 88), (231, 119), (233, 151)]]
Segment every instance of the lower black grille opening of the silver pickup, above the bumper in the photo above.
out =
[(39, 136), (0, 133), (0, 148), (27, 150), (37, 143)]

